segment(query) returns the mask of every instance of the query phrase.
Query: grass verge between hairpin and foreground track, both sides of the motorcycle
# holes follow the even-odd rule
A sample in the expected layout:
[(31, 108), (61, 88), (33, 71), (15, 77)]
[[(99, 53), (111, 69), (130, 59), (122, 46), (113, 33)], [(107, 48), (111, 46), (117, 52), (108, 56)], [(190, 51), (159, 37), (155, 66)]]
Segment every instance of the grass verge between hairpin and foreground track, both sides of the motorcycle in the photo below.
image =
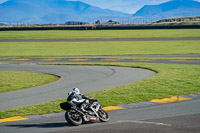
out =
[[(61, 63), (63, 64), (63, 63)], [(102, 106), (126, 104), (132, 102), (149, 101), (151, 99), (187, 95), (200, 92), (200, 66), (199, 65), (174, 65), (151, 63), (68, 63), (84, 65), (113, 65), (126, 67), (147, 68), (157, 71), (158, 74), (129, 85), (110, 88), (107, 90), (90, 93), (88, 96), (97, 98)], [(17, 109), (0, 111), (0, 118), (12, 116), (27, 116), (63, 111), (60, 99), (40, 105), (27, 106)]]

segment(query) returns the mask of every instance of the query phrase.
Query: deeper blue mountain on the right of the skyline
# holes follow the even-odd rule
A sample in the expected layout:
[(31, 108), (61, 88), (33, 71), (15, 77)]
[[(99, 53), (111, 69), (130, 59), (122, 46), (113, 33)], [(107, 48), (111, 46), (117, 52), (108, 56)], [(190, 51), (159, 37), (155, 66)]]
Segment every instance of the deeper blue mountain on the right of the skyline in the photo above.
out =
[(170, 17), (200, 16), (200, 2), (193, 0), (172, 0), (159, 5), (145, 5), (134, 17), (164, 19)]

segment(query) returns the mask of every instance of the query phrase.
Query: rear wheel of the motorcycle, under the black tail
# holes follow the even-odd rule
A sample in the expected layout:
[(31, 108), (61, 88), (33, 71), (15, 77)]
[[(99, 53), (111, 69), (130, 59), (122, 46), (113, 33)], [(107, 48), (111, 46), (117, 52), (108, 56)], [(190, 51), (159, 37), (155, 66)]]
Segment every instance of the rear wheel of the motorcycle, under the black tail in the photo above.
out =
[(73, 110), (68, 110), (65, 113), (66, 121), (72, 126), (79, 126), (82, 124), (83, 120), (78, 112)]

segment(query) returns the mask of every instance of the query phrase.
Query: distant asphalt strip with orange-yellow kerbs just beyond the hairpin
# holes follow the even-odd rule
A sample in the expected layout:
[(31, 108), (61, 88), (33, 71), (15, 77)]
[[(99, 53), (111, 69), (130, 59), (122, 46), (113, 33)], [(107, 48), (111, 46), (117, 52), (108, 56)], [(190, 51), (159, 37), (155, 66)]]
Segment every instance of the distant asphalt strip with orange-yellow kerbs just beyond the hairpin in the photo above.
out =
[[(93, 57), (93, 58), (91, 58)], [(178, 57), (179, 59), (117, 59), (120, 57)], [(168, 64), (189, 64), (200, 65), (200, 60), (197, 59), (181, 59), (187, 57), (200, 57), (200, 54), (189, 55), (127, 55), (127, 56), (76, 56), (69, 58), (3, 58), (0, 62), (17, 62), (17, 63), (68, 63), (68, 62), (144, 62), (144, 63), (168, 63)], [(102, 59), (101, 59), (102, 58)], [(105, 58), (105, 59), (103, 59)]]

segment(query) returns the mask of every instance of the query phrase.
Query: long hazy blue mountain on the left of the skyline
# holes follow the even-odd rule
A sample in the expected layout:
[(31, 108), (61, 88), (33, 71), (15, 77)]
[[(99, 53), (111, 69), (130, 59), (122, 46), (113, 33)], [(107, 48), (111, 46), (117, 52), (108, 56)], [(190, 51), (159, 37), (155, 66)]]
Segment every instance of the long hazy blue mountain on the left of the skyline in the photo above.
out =
[(130, 14), (101, 9), (79, 1), (10, 0), (0, 4), (0, 22), (9, 24), (49, 24), (66, 21), (94, 22)]

